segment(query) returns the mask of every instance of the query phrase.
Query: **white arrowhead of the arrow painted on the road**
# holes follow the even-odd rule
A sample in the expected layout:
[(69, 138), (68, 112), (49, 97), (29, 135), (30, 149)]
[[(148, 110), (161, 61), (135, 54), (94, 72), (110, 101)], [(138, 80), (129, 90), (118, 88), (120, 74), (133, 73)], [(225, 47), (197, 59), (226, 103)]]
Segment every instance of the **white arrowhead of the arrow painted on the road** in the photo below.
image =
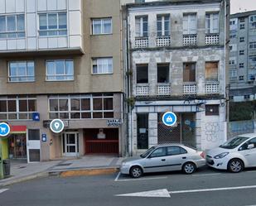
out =
[(167, 189), (157, 189), (141, 193), (117, 194), (115, 196), (144, 197), (144, 198), (171, 198)]

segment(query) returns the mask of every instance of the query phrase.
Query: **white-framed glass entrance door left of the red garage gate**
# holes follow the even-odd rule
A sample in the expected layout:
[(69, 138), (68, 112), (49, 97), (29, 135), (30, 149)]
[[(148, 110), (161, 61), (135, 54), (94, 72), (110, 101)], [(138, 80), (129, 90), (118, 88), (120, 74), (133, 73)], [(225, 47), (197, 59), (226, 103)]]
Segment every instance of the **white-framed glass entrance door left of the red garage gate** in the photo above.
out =
[(63, 155), (77, 156), (78, 142), (78, 132), (65, 132), (63, 136)]

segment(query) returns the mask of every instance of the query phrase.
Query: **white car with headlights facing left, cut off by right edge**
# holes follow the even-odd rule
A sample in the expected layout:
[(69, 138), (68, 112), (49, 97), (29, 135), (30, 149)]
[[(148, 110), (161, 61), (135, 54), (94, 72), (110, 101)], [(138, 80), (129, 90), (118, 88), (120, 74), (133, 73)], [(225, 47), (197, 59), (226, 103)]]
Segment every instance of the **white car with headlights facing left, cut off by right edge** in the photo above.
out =
[(230, 172), (256, 167), (256, 133), (239, 135), (206, 151), (206, 165)]

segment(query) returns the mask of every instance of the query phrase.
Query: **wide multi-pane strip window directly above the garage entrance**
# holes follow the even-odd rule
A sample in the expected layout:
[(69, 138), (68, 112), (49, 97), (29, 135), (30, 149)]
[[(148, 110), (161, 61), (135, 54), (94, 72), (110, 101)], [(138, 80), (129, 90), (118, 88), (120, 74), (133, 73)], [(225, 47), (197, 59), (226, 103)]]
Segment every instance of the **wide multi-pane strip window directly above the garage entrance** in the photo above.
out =
[(52, 96), (49, 108), (50, 119), (113, 118), (114, 98), (111, 93)]

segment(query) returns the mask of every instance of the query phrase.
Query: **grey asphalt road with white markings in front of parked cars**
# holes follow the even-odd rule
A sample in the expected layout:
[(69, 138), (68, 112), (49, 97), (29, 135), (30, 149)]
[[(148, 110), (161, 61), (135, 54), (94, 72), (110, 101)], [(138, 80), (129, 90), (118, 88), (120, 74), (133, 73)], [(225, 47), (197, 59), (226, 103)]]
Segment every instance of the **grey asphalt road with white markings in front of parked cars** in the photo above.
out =
[(194, 175), (175, 172), (138, 180), (118, 174), (49, 177), (0, 188), (0, 206), (16, 205), (252, 206), (256, 169), (239, 174), (206, 169)]

